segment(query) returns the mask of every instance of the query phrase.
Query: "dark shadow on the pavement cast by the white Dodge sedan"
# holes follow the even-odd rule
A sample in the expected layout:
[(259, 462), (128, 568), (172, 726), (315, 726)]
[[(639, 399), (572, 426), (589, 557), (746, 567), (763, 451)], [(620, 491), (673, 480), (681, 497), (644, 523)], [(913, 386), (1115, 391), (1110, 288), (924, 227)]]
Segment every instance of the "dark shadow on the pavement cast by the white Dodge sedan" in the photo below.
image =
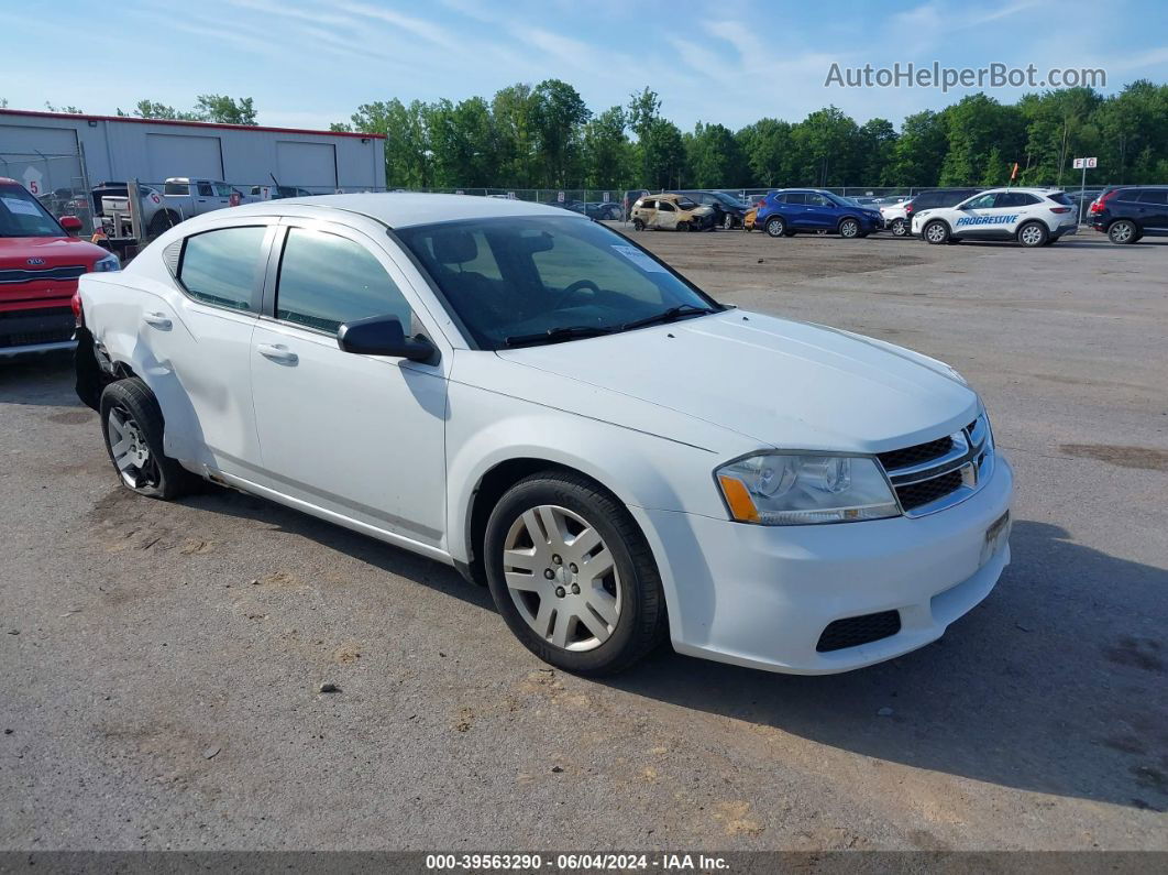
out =
[[(494, 610), (486, 589), (446, 565), (280, 505), (210, 486), (183, 504), (262, 520)], [(916, 769), (1168, 810), (1168, 648), (1134, 631), (1168, 591), (1168, 571), (1076, 544), (1043, 522), (1018, 521), (1011, 547), (1014, 562), (985, 603), (890, 662), (797, 676), (662, 647), (593, 682)]]

